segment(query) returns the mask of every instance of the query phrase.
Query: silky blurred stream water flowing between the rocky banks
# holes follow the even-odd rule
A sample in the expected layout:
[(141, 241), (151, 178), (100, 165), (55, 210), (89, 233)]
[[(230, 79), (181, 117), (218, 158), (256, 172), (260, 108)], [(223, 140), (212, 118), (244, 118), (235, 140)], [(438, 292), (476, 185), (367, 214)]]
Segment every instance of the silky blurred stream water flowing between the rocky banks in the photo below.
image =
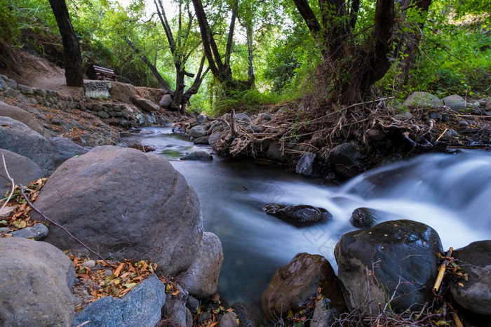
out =
[[(170, 128), (142, 128), (122, 138), (152, 145), (156, 154), (178, 159), (197, 147)], [(260, 295), (276, 269), (299, 252), (321, 254), (337, 269), (334, 247), (354, 230), (359, 207), (384, 211), (382, 220), (410, 219), (436, 229), (443, 248), (491, 239), (491, 152), (426, 154), (359, 175), (340, 187), (303, 178), (284, 167), (249, 161), (170, 161), (196, 189), (203, 225), (220, 237), (225, 261), (219, 293), (230, 303), (260, 307)], [(262, 211), (268, 202), (309, 204), (332, 213), (321, 225), (297, 228)], [(381, 221), (382, 221), (381, 220)]]

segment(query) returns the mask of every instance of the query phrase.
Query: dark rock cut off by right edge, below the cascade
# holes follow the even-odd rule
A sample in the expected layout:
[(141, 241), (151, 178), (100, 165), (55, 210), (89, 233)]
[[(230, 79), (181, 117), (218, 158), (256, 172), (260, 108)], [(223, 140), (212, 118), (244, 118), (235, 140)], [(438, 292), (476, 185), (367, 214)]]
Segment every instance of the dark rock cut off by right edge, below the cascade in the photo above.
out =
[[(491, 241), (477, 241), (454, 251), (457, 265), (469, 275), (450, 287), (452, 298), (475, 314), (491, 316)], [(463, 286), (460, 286), (461, 283)]]

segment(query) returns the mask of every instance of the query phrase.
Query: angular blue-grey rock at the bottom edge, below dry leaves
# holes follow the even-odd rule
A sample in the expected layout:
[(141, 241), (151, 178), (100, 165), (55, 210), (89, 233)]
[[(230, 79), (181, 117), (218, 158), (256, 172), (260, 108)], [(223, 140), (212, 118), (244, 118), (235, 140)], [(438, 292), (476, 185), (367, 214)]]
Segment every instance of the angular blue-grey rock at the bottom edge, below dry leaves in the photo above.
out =
[[(90, 303), (74, 319), (73, 326), (155, 326), (166, 303), (166, 286), (155, 274), (148, 276), (123, 298), (106, 296)], [(144, 322), (144, 323), (143, 323)]]

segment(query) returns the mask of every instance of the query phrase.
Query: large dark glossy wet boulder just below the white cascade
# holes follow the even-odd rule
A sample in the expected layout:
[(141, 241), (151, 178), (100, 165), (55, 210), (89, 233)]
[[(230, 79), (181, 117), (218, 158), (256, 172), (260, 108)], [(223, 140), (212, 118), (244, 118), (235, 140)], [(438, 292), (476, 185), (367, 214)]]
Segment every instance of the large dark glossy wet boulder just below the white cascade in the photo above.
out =
[(421, 310), (431, 302), (430, 290), (443, 251), (434, 229), (411, 220), (391, 220), (344, 234), (335, 248), (338, 276), (346, 288), (349, 309), (386, 306), (397, 312)]

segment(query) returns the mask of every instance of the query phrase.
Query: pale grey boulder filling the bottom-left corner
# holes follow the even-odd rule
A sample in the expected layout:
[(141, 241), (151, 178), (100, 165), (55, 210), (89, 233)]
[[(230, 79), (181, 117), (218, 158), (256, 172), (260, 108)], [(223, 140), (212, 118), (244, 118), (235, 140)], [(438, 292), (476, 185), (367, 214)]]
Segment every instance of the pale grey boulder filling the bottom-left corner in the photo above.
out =
[(73, 263), (49, 243), (0, 238), (0, 326), (70, 326)]

